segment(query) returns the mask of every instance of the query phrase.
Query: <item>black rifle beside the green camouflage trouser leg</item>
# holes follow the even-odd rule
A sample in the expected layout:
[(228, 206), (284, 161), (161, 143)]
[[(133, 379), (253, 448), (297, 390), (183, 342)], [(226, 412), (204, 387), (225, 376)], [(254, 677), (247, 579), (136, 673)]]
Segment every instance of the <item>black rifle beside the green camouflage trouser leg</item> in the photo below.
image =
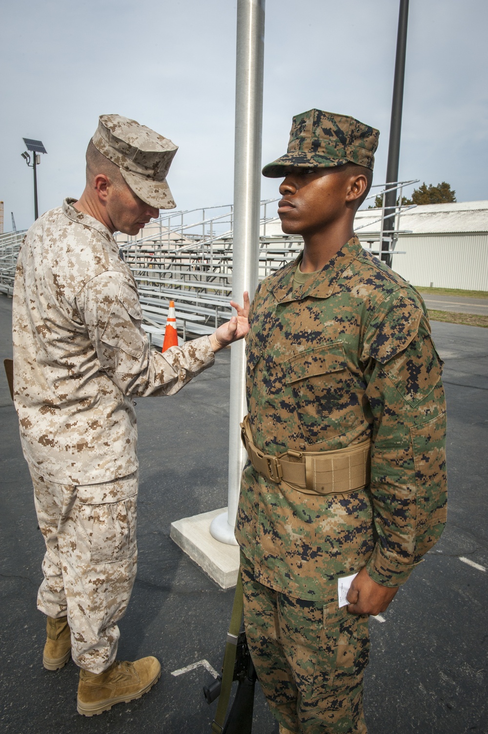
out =
[[(234, 663), (233, 680), (238, 681), (236, 697), (222, 734), (251, 734), (252, 710), (254, 708), (254, 691), (257, 675), (252, 664), (246, 633), (239, 633), (237, 639), (236, 662)], [(222, 688), (222, 675), (210, 686), (203, 686), (203, 694), (207, 703), (219, 697)]]

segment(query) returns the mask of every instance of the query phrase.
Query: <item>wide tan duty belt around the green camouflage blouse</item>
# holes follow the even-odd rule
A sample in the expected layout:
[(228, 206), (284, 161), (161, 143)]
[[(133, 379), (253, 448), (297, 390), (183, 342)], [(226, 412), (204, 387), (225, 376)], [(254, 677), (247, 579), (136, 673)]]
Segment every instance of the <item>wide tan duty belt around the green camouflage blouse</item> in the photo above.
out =
[(293, 451), (263, 454), (252, 441), (249, 415), (241, 423), (242, 443), (252, 466), (269, 482), (287, 482), (305, 494), (336, 495), (369, 484), (371, 439), (337, 451)]

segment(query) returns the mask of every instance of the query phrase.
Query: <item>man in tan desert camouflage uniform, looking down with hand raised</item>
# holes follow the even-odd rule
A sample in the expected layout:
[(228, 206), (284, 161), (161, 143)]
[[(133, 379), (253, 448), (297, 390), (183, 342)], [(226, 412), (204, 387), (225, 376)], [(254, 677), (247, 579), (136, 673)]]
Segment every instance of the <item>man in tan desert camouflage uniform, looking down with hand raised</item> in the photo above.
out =
[(37, 219), (15, 275), (15, 407), (46, 544), (43, 662), (57, 669), (73, 655), (87, 715), (140, 696), (161, 671), (152, 657), (115, 661), (136, 575), (133, 399), (178, 392), (247, 331), (238, 308), (210, 337), (161, 354), (142, 329), (136, 282), (113, 233), (135, 235), (159, 208), (175, 206), (166, 175), (176, 150), (134, 120), (103, 115), (84, 194)]

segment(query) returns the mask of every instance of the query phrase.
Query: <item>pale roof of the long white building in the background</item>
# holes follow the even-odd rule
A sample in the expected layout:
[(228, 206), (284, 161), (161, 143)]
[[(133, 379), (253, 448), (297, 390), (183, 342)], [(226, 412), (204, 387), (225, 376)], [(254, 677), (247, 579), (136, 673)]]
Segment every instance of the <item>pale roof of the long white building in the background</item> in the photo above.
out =
[[(377, 233), (380, 218), (381, 209), (363, 209), (356, 214), (354, 228), (360, 235)], [(398, 228), (413, 234), (488, 232), (488, 200), (416, 206), (401, 214)], [(266, 224), (266, 236), (283, 236), (280, 219)]]

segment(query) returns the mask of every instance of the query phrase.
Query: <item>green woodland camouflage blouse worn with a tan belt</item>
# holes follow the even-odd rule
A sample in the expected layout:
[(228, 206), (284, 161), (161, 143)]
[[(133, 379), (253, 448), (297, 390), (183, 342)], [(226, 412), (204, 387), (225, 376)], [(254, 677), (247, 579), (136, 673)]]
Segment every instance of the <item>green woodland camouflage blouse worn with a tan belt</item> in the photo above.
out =
[(445, 523), (442, 362), (423, 301), (354, 237), (310, 281), (299, 259), (258, 287), (247, 336), (247, 402), (266, 454), (327, 451), (372, 437), (371, 486), (307, 495), (247, 462), (236, 537), (255, 578), (329, 597), (366, 565), (397, 586)]

